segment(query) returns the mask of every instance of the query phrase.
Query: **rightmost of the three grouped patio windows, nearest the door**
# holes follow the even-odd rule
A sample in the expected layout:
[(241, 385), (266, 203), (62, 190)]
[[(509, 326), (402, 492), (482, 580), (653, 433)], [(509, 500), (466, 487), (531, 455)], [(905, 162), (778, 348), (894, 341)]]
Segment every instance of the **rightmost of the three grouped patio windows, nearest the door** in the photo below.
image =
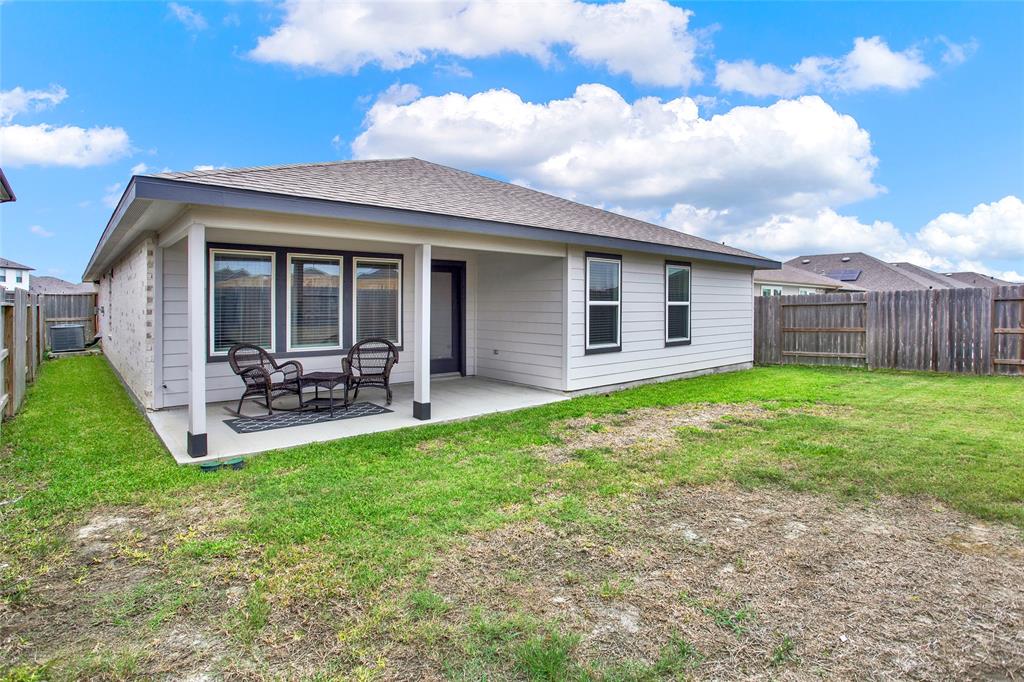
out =
[(383, 338), (401, 345), (401, 261), (353, 260), (355, 341)]

